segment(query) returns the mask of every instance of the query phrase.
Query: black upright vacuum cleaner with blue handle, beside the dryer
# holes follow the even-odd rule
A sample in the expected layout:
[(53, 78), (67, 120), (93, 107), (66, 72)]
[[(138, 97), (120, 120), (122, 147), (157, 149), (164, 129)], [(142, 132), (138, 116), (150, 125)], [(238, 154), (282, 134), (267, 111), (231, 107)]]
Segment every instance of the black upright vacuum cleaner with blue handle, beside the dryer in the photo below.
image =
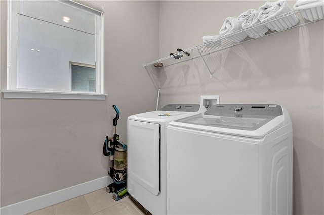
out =
[(127, 193), (127, 146), (119, 141), (119, 135), (116, 133), (117, 120), (119, 119), (119, 110), (116, 105), (112, 106), (116, 111), (116, 117), (113, 119), (114, 135), (106, 136), (103, 144), (103, 155), (110, 156), (110, 167), (108, 175), (113, 179), (113, 183), (107, 186), (108, 193), (113, 192), (112, 198), (116, 201), (124, 198)]

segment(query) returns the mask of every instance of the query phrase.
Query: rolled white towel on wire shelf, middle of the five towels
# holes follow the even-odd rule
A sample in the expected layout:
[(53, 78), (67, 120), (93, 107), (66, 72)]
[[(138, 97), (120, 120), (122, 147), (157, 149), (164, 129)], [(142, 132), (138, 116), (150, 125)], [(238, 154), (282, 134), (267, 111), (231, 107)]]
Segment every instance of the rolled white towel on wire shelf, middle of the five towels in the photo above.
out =
[[(257, 23), (260, 23), (258, 19), (259, 12), (255, 9), (249, 9), (246, 12), (241, 13), (237, 17), (238, 21), (242, 21), (242, 28), (249, 28)], [(259, 25), (251, 30), (247, 30), (246, 33), (250, 38), (257, 38), (263, 36), (268, 31), (268, 27), (265, 25)]]

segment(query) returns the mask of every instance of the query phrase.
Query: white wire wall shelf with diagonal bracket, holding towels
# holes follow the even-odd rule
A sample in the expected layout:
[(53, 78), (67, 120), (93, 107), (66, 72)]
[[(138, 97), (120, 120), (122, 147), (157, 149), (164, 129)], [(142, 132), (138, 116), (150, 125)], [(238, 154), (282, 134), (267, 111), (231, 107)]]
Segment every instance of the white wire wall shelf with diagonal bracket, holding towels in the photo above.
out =
[[(295, 27), (301, 27), (308, 23), (316, 22), (319, 20), (322, 20), (323, 18), (309, 21), (307, 19), (304, 19), (300, 12), (298, 11), (290, 11), (288, 13), (279, 15), (277, 17), (265, 20), (263, 22), (257, 23), (253, 26), (250, 26), (248, 28), (244, 28), (238, 31), (235, 31), (233, 33), (227, 34), (225, 36), (219, 37), (215, 40), (209, 41), (207, 43), (199, 44), (197, 46), (185, 49), (183, 51), (174, 53), (173, 55), (167, 56), (165, 58), (158, 59), (156, 61), (152, 61), (150, 63), (144, 63), (143, 66), (154, 66), (156, 63), (162, 63), (163, 66), (161, 67), (167, 67), (173, 64), (178, 64), (184, 61), (189, 61), (195, 58), (202, 58), (204, 60), (204, 56), (210, 55), (211, 53), (215, 53), (217, 51), (221, 51), (227, 48), (231, 48), (235, 45), (239, 45), (251, 40), (259, 39), (264, 36), (269, 36), (274, 33), (278, 33), (284, 30), (292, 29)], [(297, 24), (294, 20), (298, 20)], [(235, 38), (237, 38), (240, 34), (246, 33), (247, 31), (257, 32), (258, 28), (264, 27), (264, 26), (275, 26), (277, 30), (268, 30), (263, 36), (257, 37), (257, 38), (250, 38), (247, 36), (244, 40), (240, 41), (239, 43), (234, 42)], [(188, 56), (186, 53), (190, 53), (190, 56)], [(181, 57), (180, 57), (181, 56)], [(205, 60), (204, 60), (205, 62)], [(206, 62), (205, 62), (206, 64)], [(207, 68), (208, 65), (206, 64)], [(156, 67), (156, 68), (161, 68)], [(208, 68), (209, 70), (209, 68)], [(210, 71), (209, 71), (210, 72)], [(211, 73), (211, 72), (210, 72)], [(212, 77), (212, 76), (211, 76)]]

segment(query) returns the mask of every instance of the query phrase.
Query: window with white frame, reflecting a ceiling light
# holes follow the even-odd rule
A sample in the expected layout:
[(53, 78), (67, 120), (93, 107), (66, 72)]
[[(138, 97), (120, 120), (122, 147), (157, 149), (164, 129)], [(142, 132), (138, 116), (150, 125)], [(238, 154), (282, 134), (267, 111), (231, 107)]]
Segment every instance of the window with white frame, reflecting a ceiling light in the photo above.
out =
[(102, 40), (103, 8), (94, 3), (8, 1), (4, 97), (42, 92), (105, 99)]

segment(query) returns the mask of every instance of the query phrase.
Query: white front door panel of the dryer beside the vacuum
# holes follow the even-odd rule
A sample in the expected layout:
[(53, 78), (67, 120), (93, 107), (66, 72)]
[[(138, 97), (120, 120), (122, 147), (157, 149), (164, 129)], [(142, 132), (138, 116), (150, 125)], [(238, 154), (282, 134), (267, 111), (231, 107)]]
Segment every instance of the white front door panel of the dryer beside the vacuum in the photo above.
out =
[(159, 193), (159, 132), (156, 123), (129, 120), (127, 134), (128, 177), (154, 195)]

